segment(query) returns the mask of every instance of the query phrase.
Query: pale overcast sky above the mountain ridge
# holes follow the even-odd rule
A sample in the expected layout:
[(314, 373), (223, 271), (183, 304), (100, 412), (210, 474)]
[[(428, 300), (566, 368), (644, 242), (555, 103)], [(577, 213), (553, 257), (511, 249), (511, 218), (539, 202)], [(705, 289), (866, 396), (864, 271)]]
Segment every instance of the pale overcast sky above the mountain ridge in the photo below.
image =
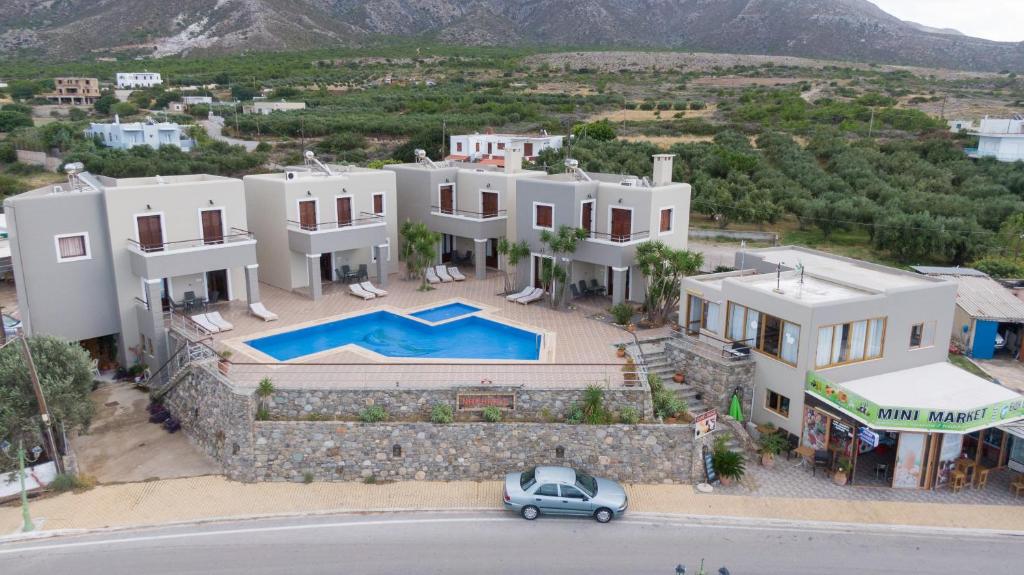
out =
[(979, 38), (1024, 41), (1024, 0), (870, 0), (894, 16)]

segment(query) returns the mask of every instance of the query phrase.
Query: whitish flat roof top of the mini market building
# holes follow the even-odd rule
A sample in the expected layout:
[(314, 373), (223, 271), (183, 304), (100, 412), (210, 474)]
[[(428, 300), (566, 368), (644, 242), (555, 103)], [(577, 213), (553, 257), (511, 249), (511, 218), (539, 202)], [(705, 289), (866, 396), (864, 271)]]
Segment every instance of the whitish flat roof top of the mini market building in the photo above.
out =
[(781, 263), (791, 269), (796, 268), (798, 264), (803, 264), (807, 273), (817, 277), (876, 292), (930, 285), (944, 281), (941, 278), (797, 246), (762, 248), (748, 250), (746, 253), (760, 256), (770, 264)]

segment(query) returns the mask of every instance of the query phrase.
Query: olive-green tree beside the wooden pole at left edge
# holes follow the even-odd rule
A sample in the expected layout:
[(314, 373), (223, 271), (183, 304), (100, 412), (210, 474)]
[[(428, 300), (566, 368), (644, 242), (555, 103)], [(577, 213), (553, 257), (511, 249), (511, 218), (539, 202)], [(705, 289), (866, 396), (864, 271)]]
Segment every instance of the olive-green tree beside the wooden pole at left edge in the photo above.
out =
[[(29, 339), (39, 385), (54, 424), (68, 432), (85, 430), (92, 419), (93, 361), (77, 344), (49, 336)], [(42, 443), (39, 406), (19, 344), (0, 349), (0, 436), (13, 443)], [(50, 454), (52, 456), (52, 454)]]

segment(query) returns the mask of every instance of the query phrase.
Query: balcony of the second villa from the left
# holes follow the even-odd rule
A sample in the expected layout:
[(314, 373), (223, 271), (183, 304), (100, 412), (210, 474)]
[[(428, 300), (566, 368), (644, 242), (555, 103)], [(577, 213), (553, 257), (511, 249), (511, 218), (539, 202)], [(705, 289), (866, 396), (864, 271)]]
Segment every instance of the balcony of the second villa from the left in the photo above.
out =
[(288, 221), (288, 246), (299, 254), (327, 254), (380, 246), (387, 242), (387, 220), (360, 214), (346, 222), (303, 224)]

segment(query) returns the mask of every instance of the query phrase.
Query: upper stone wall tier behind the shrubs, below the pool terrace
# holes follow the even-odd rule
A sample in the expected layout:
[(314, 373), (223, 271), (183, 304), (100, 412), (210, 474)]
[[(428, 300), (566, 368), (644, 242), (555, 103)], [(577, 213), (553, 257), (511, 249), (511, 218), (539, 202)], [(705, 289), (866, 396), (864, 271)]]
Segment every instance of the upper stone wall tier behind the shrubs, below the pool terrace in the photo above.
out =
[[(276, 390), (268, 402), (271, 418), (351, 419), (368, 405), (383, 406), (392, 419), (425, 419), (434, 404), (445, 403), (457, 411), (459, 394), (514, 394), (515, 408), (505, 412), (512, 422), (565, 419), (573, 403), (583, 402), (582, 389), (521, 389), (517, 387), (480, 386), (449, 389), (283, 389)], [(629, 405), (642, 417), (653, 416), (650, 391), (646, 385), (635, 388), (608, 388), (604, 404), (613, 412)], [(457, 412), (458, 418), (476, 418), (478, 412)]]

